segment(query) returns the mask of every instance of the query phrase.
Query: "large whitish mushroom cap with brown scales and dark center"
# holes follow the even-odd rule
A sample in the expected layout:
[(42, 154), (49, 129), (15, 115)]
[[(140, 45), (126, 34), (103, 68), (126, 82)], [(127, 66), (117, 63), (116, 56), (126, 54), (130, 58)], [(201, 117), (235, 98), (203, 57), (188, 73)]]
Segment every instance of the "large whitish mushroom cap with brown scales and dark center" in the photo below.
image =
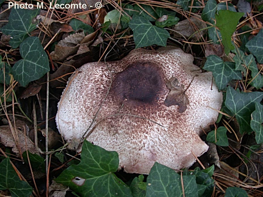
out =
[(155, 161), (180, 170), (207, 151), (199, 135), (221, 104), (212, 73), (201, 73), (192, 55), (175, 47), (135, 49), (119, 61), (80, 67), (61, 96), (56, 123), (71, 149), (80, 149), (84, 137), (117, 151), (119, 169), (147, 174)]

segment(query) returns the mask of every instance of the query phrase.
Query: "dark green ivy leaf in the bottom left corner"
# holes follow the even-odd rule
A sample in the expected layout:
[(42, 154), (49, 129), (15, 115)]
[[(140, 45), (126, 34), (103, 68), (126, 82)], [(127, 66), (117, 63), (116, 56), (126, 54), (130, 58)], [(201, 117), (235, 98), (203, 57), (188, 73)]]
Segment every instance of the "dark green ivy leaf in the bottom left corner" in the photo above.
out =
[(8, 189), (12, 197), (29, 197), (33, 191), (27, 182), (20, 180), (9, 157), (0, 163), (0, 190), (4, 189)]

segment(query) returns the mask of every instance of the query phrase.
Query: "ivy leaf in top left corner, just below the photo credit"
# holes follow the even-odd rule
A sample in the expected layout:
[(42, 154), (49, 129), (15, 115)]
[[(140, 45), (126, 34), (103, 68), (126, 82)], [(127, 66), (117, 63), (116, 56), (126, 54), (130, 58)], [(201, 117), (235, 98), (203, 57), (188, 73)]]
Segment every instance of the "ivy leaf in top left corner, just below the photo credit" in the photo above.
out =
[(18, 47), (30, 35), (30, 32), (37, 28), (39, 20), (36, 17), (39, 12), (39, 9), (11, 9), (8, 23), (1, 28), (1, 32), (10, 35), (11, 39), (14, 39), (10, 43), (12, 47)]

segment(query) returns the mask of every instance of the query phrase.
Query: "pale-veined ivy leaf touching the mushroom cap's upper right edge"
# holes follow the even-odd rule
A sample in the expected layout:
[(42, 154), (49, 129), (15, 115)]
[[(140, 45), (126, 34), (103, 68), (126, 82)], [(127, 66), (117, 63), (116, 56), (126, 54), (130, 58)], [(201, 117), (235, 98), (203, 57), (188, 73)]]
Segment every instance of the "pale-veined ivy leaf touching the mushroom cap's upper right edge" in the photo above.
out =
[(203, 69), (213, 72), (219, 90), (223, 90), (232, 79), (241, 79), (241, 72), (235, 70), (234, 62), (224, 62), (216, 55), (207, 56)]

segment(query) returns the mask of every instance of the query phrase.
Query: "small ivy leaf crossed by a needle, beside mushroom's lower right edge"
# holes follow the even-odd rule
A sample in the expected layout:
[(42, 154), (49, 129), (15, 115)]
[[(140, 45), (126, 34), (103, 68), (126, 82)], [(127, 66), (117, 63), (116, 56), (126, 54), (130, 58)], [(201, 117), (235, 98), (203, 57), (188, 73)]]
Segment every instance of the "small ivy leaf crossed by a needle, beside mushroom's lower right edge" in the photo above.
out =
[[(218, 146), (221, 147), (227, 147), (228, 144), (228, 139), (227, 139), (227, 135), (226, 135), (226, 128), (225, 127), (219, 127), (217, 128), (217, 134), (215, 136), (215, 130), (210, 131), (206, 137), (206, 140), (208, 142), (212, 142)], [(217, 139), (217, 140), (216, 140)]]

